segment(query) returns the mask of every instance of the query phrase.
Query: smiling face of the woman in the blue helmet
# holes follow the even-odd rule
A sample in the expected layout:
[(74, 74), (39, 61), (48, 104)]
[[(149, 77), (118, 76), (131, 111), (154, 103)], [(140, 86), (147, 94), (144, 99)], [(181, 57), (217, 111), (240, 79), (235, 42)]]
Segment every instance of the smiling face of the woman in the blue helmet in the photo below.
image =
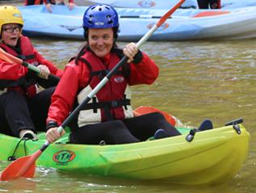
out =
[(105, 57), (114, 44), (112, 28), (89, 28), (88, 42), (90, 49), (97, 57)]

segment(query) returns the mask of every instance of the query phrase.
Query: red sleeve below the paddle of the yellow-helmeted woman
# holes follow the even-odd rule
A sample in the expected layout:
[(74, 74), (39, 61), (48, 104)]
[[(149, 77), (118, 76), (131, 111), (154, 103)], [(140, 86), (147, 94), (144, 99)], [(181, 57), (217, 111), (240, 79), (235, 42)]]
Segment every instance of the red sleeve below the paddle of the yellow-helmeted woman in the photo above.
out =
[(0, 79), (18, 80), (25, 76), (27, 68), (19, 64), (10, 64), (0, 60)]

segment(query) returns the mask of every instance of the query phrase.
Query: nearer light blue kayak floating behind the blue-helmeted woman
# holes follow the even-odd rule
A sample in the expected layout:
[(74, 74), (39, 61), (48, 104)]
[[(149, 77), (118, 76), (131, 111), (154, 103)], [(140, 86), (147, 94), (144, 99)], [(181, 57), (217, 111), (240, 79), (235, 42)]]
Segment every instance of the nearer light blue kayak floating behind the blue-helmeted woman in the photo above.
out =
[[(20, 6), (27, 36), (83, 39), (82, 15), (86, 6)], [(137, 41), (167, 11), (162, 9), (116, 8), (120, 15), (118, 40)], [(256, 6), (232, 10), (178, 9), (149, 40), (229, 40), (256, 37)]]

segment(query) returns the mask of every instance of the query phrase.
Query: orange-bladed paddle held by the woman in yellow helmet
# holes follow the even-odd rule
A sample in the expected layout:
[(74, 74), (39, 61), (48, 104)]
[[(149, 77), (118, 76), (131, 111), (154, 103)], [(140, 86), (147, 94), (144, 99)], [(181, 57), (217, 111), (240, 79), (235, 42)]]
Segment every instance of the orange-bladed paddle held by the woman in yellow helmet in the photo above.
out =
[[(18, 57), (15, 57), (15, 56), (11, 55), (10, 53), (5, 52), (2, 48), (0, 48), (0, 59), (2, 59), (3, 61), (9, 62), (11, 64), (23, 65), (23, 66), (27, 67), (28, 69), (33, 70), (36, 73), (40, 73), (40, 69), (37, 68), (35, 65), (31, 65), (31, 64), (27, 63), (27, 61), (23, 61), (23, 60), (19, 59)], [(52, 73), (49, 74), (48, 78), (51, 79), (52, 83), (54, 83), (55, 85), (57, 85), (57, 83), (60, 81), (60, 78), (53, 75)]]

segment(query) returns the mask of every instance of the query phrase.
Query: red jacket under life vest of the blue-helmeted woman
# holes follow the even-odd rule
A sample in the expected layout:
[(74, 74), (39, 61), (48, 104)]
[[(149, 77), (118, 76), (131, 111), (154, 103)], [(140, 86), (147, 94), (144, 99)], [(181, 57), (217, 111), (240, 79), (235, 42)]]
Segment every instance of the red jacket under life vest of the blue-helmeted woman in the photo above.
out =
[[(103, 60), (104, 64), (109, 65), (111, 57), (116, 57), (116, 53), (111, 52), (107, 57), (101, 60)], [(91, 61), (89, 62), (92, 64)], [(113, 68), (113, 66), (108, 67), (108, 69)], [(145, 53), (143, 53), (142, 61), (139, 64), (130, 63), (129, 68), (130, 74), (126, 80), (129, 86), (152, 84), (159, 72), (157, 65), (155, 65)], [(88, 86), (90, 82), (90, 72), (88, 65), (82, 61), (78, 61), (78, 65), (76, 65), (73, 60), (66, 65), (65, 73), (52, 95), (52, 104), (49, 107), (47, 122), (56, 121), (57, 124), (61, 125), (69, 115), (69, 111), (71, 111), (73, 107), (78, 91)], [(111, 81), (112, 79), (113, 78), (111, 78)], [(110, 84), (110, 82), (107, 82), (107, 84)]]

